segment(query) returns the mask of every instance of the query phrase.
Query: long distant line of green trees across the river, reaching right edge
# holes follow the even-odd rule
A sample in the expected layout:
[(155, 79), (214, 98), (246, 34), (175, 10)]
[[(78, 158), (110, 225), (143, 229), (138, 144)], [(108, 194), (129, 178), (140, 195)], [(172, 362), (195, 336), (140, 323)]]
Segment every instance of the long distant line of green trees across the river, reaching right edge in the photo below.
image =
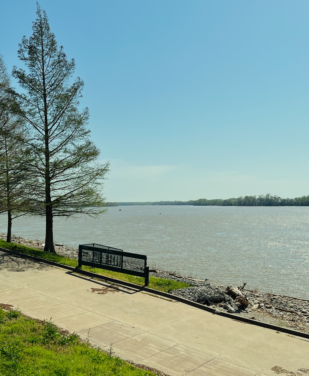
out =
[(198, 199), (189, 201), (118, 202), (118, 205), (194, 205), (194, 206), (309, 206), (309, 196), (294, 199), (271, 196), (270, 193), (229, 199)]

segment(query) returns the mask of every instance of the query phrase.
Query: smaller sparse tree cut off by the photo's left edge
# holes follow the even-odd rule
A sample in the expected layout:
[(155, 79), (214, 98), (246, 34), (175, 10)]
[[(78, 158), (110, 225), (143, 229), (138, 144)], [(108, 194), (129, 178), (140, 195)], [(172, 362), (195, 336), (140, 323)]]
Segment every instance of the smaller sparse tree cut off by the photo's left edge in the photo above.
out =
[(12, 219), (27, 212), (26, 150), (21, 118), (12, 112), (10, 80), (0, 56), (0, 213), (8, 216), (6, 241), (11, 242)]

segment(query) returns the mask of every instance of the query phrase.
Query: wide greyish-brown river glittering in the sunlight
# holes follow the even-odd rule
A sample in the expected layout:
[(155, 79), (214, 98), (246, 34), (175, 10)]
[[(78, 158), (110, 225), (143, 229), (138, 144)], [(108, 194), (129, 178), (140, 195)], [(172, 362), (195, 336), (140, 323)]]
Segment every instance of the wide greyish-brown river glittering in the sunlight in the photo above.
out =
[[(44, 240), (44, 231), (44, 219), (13, 221), (17, 236)], [(141, 253), (149, 266), (217, 284), (309, 296), (309, 207), (110, 207), (98, 218), (55, 218), (54, 241)]]

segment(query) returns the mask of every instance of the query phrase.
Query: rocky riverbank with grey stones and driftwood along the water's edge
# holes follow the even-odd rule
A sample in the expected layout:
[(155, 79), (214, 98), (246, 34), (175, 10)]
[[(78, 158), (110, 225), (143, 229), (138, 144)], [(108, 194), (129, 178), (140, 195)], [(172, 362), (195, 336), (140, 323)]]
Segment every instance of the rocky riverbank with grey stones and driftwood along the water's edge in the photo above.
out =
[[(6, 234), (0, 233), (0, 238), (6, 240)], [(12, 236), (12, 243), (40, 250), (44, 249), (44, 242), (39, 239), (32, 240)], [(55, 250), (58, 255), (74, 259), (78, 258), (77, 249), (66, 247), (63, 244), (55, 244)], [(245, 308), (239, 303), (234, 302), (234, 300), (226, 294), (227, 286), (209, 283), (207, 280), (203, 281), (191, 277), (179, 276), (176, 275), (175, 272), (170, 273), (168, 271), (155, 269), (151, 269), (149, 275), (187, 282), (191, 285), (191, 287), (171, 291), (173, 295), (209, 305), (217, 311), (229, 312), (278, 326), (291, 327), (309, 334), (309, 300), (307, 299), (243, 289), (242, 292), (250, 302), (249, 306)]]

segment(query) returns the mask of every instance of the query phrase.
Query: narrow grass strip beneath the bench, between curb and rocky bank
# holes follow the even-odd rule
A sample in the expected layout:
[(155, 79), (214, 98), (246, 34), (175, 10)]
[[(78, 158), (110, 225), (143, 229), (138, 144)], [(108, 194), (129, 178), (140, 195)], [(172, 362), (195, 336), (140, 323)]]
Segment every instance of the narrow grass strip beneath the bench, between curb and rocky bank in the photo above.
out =
[[(0, 239), (0, 247), (9, 249), (12, 251), (24, 253), (26, 255), (36, 256), (45, 260), (58, 262), (59, 264), (68, 265), (73, 268), (77, 268), (78, 266), (78, 262), (76, 259), (70, 259), (68, 257), (55, 255), (54, 253), (44, 252), (36, 248), (22, 246), (21, 244), (7, 243), (5, 240), (2, 240), (2, 239)], [(136, 276), (131, 276), (130, 274), (123, 274), (123, 273), (118, 273), (116, 271), (92, 268), (88, 266), (82, 266), (81, 269), (91, 271), (92, 273), (101, 274), (102, 276), (105, 276), (105, 277), (115, 278), (115, 279), (119, 279), (125, 282), (131, 282), (139, 286), (143, 286), (145, 284), (143, 277), (136, 277)], [(159, 290), (159, 291), (164, 291), (166, 293), (169, 293), (172, 290), (176, 290), (178, 288), (185, 288), (189, 286), (191, 285), (185, 282), (177, 282), (177, 281), (170, 280), (170, 279), (163, 279), (163, 278), (149, 276), (148, 287), (153, 288), (154, 290)]]

